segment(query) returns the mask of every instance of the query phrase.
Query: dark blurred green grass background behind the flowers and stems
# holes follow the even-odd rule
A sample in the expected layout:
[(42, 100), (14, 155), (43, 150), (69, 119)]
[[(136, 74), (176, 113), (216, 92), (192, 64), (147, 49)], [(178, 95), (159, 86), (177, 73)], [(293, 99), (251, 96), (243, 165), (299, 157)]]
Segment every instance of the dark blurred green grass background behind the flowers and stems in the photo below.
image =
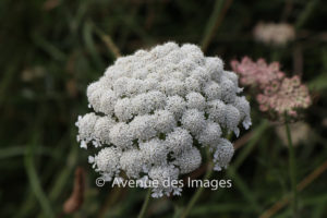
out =
[[(288, 22), (294, 41), (256, 43), (259, 22)], [(118, 53), (168, 40), (194, 43), (206, 56), (279, 61), (313, 95), (304, 120), (308, 137), (295, 148), (302, 217), (327, 217), (327, 3), (325, 0), (1, 0), (0, 217), (135, 217), (146, 191), (97, 187), (74, 123), (88, 111), (85, 90)], [(214, 179), (232, 189), (205, 190), (190, 217), (259, 217), (289, 194), (288, 152), (277, 125), (253, 104), (231, 167)], [(245, 135), (245, 136), (244, 136)], [(242, 137), (244, 136), (244, 137)], [(86, 175), (82, 207), (62, 213), (76, 167)], [(323, 166), (323, 167), (322, 167)], [(314, 174), (312, 174), (314, 173)], [(201, 178), (203, 171), (197, 173)], [(148, 217), (179, 217), (194, 189), (152, 199)], [(284, 204), (272, 217), (290, 217)]]

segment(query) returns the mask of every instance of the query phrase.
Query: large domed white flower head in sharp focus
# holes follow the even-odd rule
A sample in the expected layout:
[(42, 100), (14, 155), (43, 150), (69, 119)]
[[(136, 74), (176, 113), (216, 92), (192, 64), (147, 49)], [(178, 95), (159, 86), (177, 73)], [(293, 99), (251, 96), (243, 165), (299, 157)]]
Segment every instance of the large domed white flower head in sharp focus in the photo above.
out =
[(77, 141), (100, 152), (89, 157), (107, 180), (159, 181), (153, 196), (180, 194), (164, 180), (190, 173), (202, 162), (201, 147), (214, 154), (215, 169), (228, 167), (232, 144), (251, 125), (250, 105), (238, 76), (219, 58), (204, 57), (195, 45), (167, 43), (119, 58), (87, 88), (95, 112), (80, 117)]

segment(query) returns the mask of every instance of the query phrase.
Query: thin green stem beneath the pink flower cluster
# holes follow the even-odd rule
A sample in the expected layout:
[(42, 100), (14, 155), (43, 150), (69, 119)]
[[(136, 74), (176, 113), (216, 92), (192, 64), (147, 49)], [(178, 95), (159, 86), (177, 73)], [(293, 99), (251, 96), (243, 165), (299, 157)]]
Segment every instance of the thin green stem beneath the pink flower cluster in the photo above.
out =
[(286, 132), (288, 136), (288, 147), (289, 147), (289, 170), (290, 170), (290, 179), (292, 186), (292, 208), (293, 208), (293, 217), (296, 217), (298, 213), (298, 193), (296, 193), (296, 171), (295, 171), (295, 154), (294, 146), (292, 143), (291, 131), (289, 126), (288, 116), (286, 114)]

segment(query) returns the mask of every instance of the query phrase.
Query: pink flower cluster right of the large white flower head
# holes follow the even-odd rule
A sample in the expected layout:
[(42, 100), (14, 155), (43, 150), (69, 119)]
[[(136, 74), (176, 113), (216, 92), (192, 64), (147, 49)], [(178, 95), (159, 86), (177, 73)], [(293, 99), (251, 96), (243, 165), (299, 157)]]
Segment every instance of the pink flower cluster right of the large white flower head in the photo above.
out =
[(242, 85), (257, 88), (256, 100), (264, 112), (272, 111), (279, 117), (287, 112), (291, 117), (296, 117), (298, 109), (311, 105), (307, 87), (301, 84), (298, 75), (287, 77), (280, 71), (278, 62), (267, 64), (264, 59), (253, 62), (244, 57), (241, 62), (233, 60), (231, 66), (240, 75)]

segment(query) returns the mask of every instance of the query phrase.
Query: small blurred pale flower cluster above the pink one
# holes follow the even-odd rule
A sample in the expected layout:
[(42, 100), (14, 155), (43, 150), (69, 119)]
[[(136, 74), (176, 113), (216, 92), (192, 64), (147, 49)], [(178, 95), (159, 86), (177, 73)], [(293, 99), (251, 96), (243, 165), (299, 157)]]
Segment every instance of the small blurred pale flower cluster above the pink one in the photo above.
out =
[(254, 27), (254, 37), (264, 44), (282, 46), (295, 38), (295, 31), (286, 23), (258, 23)]

